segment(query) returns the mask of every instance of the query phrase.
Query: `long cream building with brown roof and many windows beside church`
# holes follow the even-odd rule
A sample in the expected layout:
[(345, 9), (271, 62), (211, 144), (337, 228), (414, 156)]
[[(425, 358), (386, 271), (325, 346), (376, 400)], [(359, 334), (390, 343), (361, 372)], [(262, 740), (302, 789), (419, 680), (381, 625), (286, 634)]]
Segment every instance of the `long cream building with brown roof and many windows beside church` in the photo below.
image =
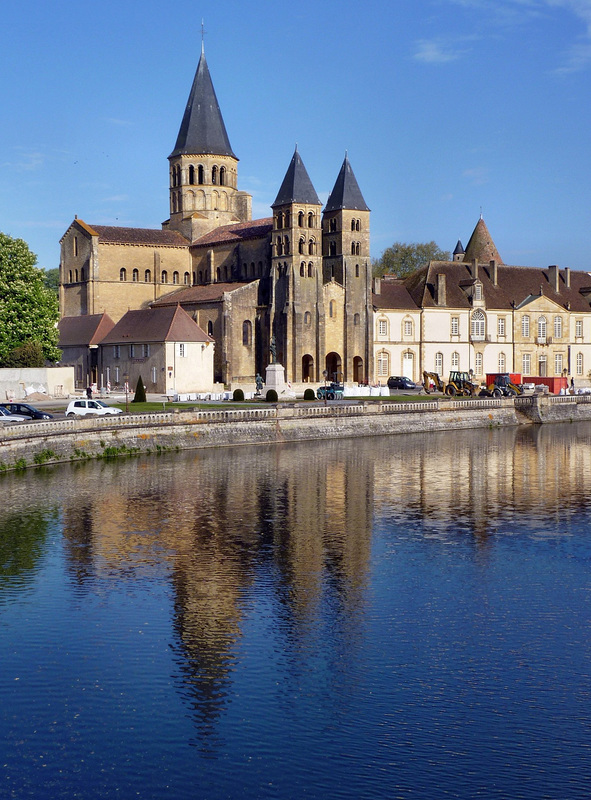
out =
[(587, 378), (591, 275), (503, 263), (482, 219), (464, 251), (374, 282), (375, 379), (423, 371)]

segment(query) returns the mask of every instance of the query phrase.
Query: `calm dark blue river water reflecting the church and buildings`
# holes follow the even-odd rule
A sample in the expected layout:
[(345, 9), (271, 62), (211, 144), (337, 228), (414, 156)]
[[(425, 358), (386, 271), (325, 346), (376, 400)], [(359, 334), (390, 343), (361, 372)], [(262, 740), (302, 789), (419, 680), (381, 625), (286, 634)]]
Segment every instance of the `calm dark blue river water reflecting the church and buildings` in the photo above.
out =
[(0, 479), (0, 797), (591, 795), (591, 427)]

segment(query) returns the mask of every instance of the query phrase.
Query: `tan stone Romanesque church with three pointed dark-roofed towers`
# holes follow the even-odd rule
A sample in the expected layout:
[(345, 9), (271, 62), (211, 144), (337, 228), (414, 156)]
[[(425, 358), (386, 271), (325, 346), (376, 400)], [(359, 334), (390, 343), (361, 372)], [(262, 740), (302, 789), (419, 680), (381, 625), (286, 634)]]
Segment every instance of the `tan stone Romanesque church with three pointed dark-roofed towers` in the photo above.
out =
[(323, 209), (296, 148), (272, 217), (251, 219), (202, 52), (169, 162), (163, 230), (71, 224), (62, 316), (180, 303), (215, 339), (218, 381), (264, 374), (272, 337), (289, 381), (367, 380), (369, 209), (348, 158)]

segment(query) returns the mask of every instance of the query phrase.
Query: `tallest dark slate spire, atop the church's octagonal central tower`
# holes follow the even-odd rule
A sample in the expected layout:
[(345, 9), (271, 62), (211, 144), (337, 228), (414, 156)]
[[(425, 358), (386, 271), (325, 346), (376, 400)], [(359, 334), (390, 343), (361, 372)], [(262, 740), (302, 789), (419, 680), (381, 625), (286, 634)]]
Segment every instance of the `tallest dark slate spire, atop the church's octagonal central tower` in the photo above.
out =
[(170, 158), (183, 154), (236, 158), (230, 146), (222, 112), (213, 88), (203, 45), (179, 135)]

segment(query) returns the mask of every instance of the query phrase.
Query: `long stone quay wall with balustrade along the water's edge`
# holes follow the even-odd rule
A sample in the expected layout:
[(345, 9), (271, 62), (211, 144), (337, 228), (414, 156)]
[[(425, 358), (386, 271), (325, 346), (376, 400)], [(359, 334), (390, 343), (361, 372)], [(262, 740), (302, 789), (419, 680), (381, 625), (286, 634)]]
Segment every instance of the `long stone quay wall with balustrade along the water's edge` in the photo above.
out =
[(242, 444), (591, 420), (590, 395), (281, 403), (0, 427), (0, 472), (47, 463)]

